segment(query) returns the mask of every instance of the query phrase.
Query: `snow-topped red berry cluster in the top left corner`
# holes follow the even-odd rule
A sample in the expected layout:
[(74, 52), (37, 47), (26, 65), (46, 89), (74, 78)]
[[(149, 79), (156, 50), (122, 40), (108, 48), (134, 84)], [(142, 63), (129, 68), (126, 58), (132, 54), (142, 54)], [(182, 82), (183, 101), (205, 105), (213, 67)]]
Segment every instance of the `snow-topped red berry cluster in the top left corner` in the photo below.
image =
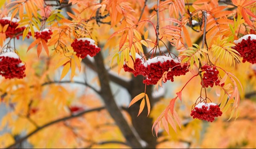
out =
[[(25, 29), (25, 27), (19, 27), (17, 28), (17, 26), (19, 25), (20, 20), (13, 18), (11, 21), (11, 17), (3, 17), (0, 19), (0, 24), (1, 26), (6, 26), (7, 24), (9, 24), (8, 28), (6, 29), (6, 38), (10, 37), (14, 37), (16, 36), (17, 39), (20, 38), (20, 36), (22, 36), (22, 33)], [(17, 29), (16, 29), (17, 28)]]

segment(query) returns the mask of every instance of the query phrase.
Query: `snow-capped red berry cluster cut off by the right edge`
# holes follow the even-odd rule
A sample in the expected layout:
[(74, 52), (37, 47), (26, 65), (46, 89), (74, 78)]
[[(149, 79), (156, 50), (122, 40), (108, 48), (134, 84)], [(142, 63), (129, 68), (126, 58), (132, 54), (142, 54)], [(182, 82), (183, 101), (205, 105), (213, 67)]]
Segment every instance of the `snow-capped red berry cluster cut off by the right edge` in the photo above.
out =
[(243, 57), (242, 62), (246, 61), (249, 63), (256, 63), (256, 35), (255, 34), (247, 34), (238, 40), (234, 40), (236, 46), (233, 47), (241, 57)]

